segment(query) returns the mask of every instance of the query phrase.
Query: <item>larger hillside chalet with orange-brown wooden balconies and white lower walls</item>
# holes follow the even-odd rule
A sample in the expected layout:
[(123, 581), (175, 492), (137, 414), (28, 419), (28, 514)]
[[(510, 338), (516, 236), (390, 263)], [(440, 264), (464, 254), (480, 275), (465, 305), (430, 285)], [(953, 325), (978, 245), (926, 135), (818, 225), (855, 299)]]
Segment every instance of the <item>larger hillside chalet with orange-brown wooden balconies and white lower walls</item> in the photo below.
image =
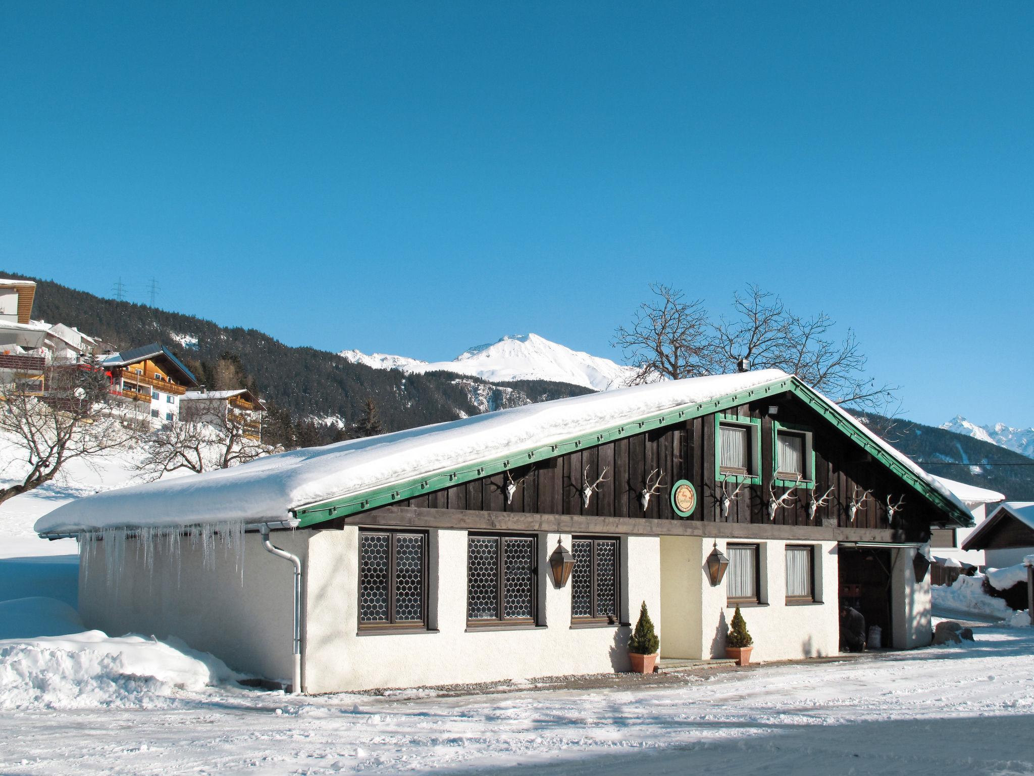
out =
[(159, 342), (115, 353), (101, 365), (112, 391), (154, 425), (178, 420), (180, 399), (197, 387), (193, 372)]

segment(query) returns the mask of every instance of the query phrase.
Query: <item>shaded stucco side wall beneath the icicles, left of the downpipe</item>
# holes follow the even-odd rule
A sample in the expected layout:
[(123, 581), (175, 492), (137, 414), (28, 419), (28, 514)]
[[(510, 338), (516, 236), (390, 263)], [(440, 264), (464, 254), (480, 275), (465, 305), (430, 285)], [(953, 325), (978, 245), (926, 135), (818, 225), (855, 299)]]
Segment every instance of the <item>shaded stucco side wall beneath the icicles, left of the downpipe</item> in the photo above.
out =
[[(272, 539), (304, 560), (307, 533), (278, 531)], [(219, 547), (215, 567), (205, 568), (201, 548), (184, 539), (179, 561), (159, 547), (148, 570), (138, 543), (127, 542), (121, 574), (107, 573), (103, 542), (83, 559), (79, 610), (88, 628), (177, 636), (237, 670), (291, 679), (293, 567), (267, 553), (257, 534), (245, 535), (243, 583)]]

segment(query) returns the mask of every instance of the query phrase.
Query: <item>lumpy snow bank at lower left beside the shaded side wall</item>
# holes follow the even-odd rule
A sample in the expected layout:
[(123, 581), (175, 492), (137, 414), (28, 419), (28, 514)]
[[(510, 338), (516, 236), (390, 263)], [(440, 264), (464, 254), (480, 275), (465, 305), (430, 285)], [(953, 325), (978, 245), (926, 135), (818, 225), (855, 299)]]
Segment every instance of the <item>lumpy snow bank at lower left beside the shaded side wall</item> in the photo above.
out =
[(88, 630), (0, 640), (0, 709), (155, 706), (176, 688), (200, 690), (236, 678), (221, 660), (178, 639)]

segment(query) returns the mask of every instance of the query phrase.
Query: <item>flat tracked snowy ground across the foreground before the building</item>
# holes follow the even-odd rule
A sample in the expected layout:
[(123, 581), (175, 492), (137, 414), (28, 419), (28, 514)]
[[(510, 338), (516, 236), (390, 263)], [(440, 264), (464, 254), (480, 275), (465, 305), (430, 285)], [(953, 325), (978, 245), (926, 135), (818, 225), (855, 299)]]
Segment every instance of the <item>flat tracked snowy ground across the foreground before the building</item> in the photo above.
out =
[(1034, 773), (1034, 629), (976, 638), (665, 688), (12, 710), (0, 773)]

